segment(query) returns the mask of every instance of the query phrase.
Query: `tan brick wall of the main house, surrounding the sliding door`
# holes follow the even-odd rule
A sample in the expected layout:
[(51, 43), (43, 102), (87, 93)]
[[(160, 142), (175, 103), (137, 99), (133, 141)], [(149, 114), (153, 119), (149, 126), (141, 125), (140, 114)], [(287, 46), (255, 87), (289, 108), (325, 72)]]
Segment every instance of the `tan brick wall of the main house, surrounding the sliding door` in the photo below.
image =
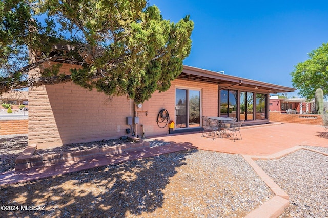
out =
[[(63, 71), (71, 65), (63, 64)], [(30, 75), (38, 74), (36, 69)], [(141, 109), (138, 109), (138, 135), (165, 134), (168, 126), (157, 126), (161, 109), (168, 110), (171, 120), (175, 117), (175, 88), (202, 89), (203, 115), (217, 115), (217, 85), (175, 80), (166, 92), (155, 92)], [(34, 87), (29, 90), (29, 144), (38, 148), (62, 144), (90, 142), (118, 138), (126, 134), (129, 126), (126, 117), (134, 117), (134, 102), (127, 96), (111, 99), (95, 90), (89, 91), (71, 82)]]

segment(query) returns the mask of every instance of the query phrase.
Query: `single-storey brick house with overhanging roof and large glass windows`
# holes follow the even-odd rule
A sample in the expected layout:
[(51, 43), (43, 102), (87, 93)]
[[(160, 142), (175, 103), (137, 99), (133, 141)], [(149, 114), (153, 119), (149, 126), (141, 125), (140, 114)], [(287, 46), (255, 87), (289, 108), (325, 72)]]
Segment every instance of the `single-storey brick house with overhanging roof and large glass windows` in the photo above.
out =
[[(71, 67), (63, 63), (61, 72)], [(39, 72), (35, 68), (30, 75)], [(184, 66), (171, 84), (140, 105), (127, 96), (108, 98), (72, 82), (30, 88), (29, 144), (47, 148), (106, 140), (129, 135), (127, 129), (139, 136), (167, 134), (167, 120), (158, 122), (163, 109), (175, 123), (170, 133), (201, 130), (203, 115), (237, 117), (245, 125), (268, 123), (269, 95), (295, 90), (191, 66)]]

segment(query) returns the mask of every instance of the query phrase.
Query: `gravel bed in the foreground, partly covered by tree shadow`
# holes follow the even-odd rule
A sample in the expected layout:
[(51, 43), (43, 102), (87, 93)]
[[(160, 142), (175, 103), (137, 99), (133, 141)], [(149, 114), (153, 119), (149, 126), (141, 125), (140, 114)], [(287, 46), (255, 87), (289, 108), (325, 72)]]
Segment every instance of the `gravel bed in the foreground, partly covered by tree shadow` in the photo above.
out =
[(243, 217), (273, 197), (240, 155), (198, 150), (1, 186), (0, 193), (1, 205), (19, 209), (0, 217)]

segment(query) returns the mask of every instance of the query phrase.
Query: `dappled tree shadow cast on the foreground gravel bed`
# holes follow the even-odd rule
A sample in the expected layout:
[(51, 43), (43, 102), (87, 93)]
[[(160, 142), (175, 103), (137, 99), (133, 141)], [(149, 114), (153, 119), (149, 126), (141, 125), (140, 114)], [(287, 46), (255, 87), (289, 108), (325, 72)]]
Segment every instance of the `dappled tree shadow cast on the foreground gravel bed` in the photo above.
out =
[(197, 150), (138, 159), (0, 187), (1, 205), (44, 205), (44, 211), (0, 211), (0, 217), (126, 217), (163, 204), (162, 190)]

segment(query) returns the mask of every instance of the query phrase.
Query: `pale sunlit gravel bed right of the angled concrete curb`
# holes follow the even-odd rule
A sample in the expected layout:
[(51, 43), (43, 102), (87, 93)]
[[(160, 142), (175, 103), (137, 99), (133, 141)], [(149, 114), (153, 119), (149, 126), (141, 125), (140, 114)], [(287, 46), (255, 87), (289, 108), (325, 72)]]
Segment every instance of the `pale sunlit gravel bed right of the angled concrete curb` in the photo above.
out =
[(328, 156), (299, 150), (279, 160), (256, 163), (290, 197), (291, 204), (280, 217), (328, 217)]

